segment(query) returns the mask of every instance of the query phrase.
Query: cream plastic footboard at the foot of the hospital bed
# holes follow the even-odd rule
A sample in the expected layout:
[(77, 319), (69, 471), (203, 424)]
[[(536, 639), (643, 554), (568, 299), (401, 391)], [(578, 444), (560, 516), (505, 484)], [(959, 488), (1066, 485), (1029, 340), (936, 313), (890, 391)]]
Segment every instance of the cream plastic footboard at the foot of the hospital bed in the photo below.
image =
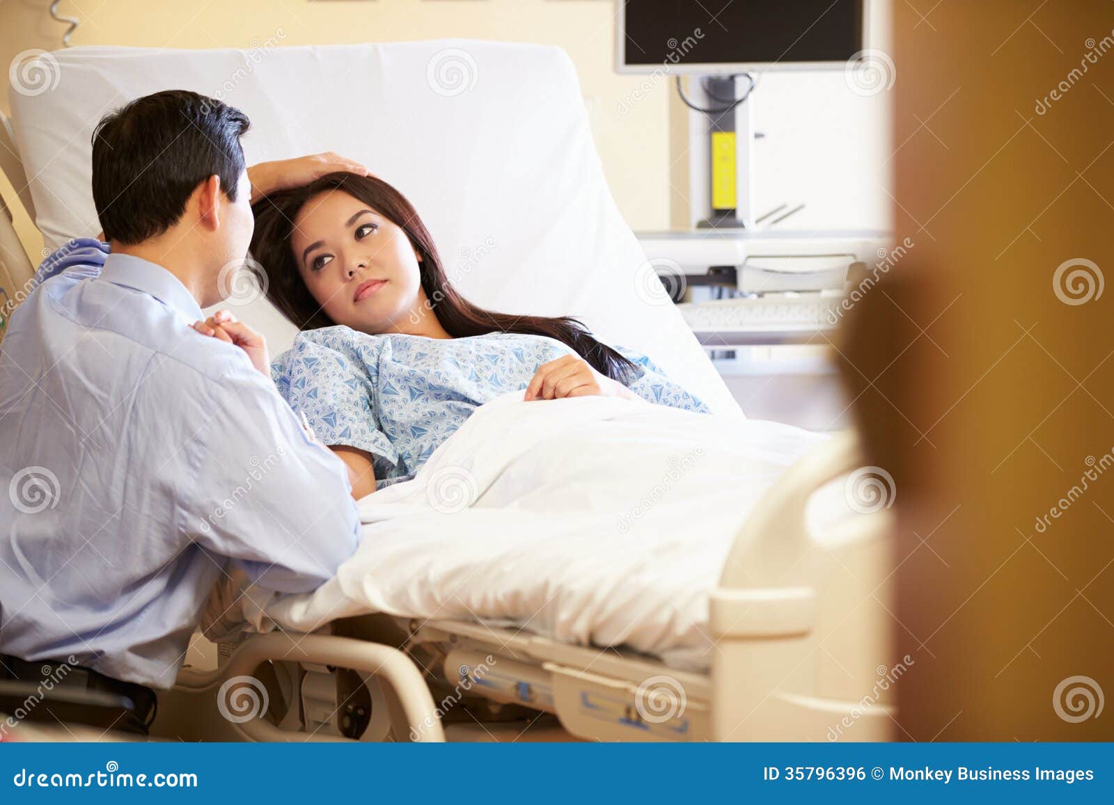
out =
[[(813, 533), (813, 493), (843, 475), (824, 490), (839, 528)], [(893, 656), (895, 494), (848, 431), (753, 509), (710, 601), (715, 738), (893, 737), (895, 685), (915, 662)]]

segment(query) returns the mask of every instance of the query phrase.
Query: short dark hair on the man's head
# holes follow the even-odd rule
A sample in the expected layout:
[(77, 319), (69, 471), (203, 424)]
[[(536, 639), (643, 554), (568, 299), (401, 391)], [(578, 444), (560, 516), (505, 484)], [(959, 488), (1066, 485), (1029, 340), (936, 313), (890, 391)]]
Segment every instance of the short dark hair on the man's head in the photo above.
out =
[(92, 202), (105, 238), (133, 245), (162, 235), (214, 174), (235, 202), (250, 125), (240, 109), (183, 89), (106, 115), (92, 132)]

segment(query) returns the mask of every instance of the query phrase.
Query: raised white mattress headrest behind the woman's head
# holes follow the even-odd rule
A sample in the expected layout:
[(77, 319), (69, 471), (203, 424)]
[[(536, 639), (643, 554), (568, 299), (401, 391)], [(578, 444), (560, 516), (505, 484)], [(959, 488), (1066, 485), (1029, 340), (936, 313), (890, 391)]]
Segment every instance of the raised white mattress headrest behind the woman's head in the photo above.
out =
[[(9, 88), (47, 246), (99, 230), (90, 136), (100, 117), (150, 92), (190, 89), (247, 114), (248, 164), (333, 150), (395, 185), (472, 302), (575, 315), (602, 341), (649, 355), (714, 410), (739, 410), (615, 206), (559, 48), (437, 40), (52, 57), (46, 91)], [(275, 353), (293, 337), (266, 303), (237, 313)]]

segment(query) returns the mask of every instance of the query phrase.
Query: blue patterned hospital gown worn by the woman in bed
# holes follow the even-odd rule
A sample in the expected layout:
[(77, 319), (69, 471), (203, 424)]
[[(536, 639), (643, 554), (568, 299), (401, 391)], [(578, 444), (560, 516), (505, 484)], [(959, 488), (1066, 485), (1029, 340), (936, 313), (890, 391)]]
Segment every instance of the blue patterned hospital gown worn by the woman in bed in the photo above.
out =
[[(645, 355), (627, 387), (653, 403), (707, 412)], [(489, 333), (465, 338), (368, 335), (323, 327), (299, 335), (272, 365), (278, 391), (325, 444), (373, 457), (377, 488), (409, 480), (473, 411), (529, 385), (547, 361), (573, 353), (540, 335)]]

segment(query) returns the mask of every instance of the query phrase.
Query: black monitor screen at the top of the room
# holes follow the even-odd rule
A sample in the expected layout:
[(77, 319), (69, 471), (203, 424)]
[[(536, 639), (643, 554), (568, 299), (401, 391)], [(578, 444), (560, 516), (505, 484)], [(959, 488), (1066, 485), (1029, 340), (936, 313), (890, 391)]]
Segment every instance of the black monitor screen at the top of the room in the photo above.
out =
[(862, 0), (626, 0), (624, 63), (847, 61)]

